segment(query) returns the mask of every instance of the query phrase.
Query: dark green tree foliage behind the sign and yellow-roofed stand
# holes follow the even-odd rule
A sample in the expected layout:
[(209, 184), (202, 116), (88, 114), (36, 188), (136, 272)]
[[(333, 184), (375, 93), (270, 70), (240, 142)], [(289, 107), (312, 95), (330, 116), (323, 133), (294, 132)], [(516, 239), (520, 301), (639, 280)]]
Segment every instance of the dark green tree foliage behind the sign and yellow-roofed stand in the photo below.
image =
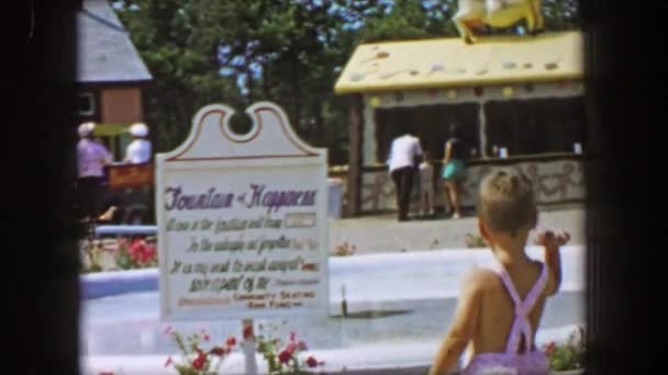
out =
[[(578, 25), (577, 0), (544, 0), (549, 30)], [(178, 146), (194, 112), (259, 100), (286, 109), (307, 141), (347, 160), (347, 103), (333, 87), (359, 43), (457, 35), (456, 0), (124, 0), (114, 8), (154, 81), (156, 150)], [(234, 118), (243, 130), (248, 118)]]

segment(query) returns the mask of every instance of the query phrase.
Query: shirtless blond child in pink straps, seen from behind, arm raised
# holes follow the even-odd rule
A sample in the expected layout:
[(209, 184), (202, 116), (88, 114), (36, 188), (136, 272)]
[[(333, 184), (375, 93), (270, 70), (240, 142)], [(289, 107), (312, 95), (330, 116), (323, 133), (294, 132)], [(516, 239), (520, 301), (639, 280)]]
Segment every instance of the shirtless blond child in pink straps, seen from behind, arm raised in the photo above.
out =
[(548, 374), (534, 344), (548, 297), (559, 291), (559, 248), (567, 232), (541, 232), (545, 262), (530, 259), (525, 245), (537, 223), (533, 188), (526, 177), (498, 170), (487, 175), (478, 196), (478, 227), (494, 258), (491, 269), (468, 276), (450, 328), (430, 374), (447, 374), (468, 346), (463, 374)]

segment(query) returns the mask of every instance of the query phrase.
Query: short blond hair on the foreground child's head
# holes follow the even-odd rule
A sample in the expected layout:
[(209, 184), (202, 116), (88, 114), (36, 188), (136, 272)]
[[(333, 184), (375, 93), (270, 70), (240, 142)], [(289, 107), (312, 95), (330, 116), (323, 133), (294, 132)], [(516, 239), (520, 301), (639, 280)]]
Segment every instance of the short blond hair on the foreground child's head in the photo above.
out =
[(480, 182), (478, 216), (493, 231), (517, 231), (535, 224), (536, 203), (531, 180), (521, 172), (498, 169)]

